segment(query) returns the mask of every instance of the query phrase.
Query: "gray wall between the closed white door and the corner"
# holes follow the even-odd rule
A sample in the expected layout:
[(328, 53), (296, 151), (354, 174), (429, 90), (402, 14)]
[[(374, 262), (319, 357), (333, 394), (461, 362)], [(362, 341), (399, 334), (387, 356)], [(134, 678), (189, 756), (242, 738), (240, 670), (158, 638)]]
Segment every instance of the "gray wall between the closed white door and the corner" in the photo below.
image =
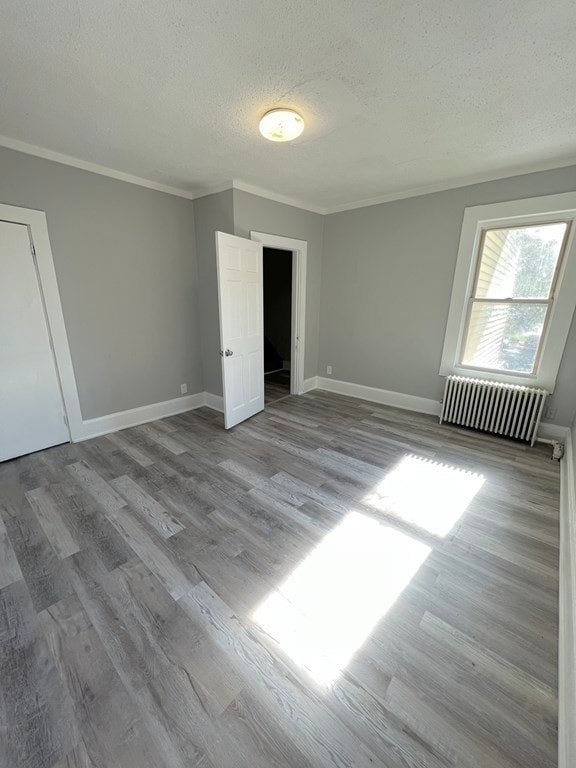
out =
[(85, 419), (202, 390), (190, 200), (0, 148), (0, 201), (46, 211)]

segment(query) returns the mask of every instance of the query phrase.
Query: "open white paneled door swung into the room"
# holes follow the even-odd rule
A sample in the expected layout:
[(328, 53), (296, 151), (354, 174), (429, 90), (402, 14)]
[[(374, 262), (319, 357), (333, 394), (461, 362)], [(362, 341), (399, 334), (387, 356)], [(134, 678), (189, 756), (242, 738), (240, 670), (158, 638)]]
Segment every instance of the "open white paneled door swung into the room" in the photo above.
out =
[(216, 232), (224, 426), (264, 408), (262, 245)]

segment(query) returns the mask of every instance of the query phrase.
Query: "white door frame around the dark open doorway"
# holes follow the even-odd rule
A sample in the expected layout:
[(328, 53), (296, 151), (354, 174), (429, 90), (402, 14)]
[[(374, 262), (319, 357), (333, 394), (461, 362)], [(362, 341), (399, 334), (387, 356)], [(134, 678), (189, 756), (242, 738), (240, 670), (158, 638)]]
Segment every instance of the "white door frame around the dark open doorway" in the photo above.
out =
[(306, 260), (308, 243), (293, 237), (250, 231), (250, 239), (264, 248), (292, 251), (292, 328), (290, 346), (290, 394), (304, 393), (304, 352), (306, 333)]

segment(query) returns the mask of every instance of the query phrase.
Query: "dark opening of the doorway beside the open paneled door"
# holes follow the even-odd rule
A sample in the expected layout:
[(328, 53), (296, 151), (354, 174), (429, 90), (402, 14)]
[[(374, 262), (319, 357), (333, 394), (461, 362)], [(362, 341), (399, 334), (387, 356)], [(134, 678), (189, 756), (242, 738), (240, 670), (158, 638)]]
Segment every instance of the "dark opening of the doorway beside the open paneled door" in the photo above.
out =
[(264, 404), (291, 391), (292, 251), (263, 249)]

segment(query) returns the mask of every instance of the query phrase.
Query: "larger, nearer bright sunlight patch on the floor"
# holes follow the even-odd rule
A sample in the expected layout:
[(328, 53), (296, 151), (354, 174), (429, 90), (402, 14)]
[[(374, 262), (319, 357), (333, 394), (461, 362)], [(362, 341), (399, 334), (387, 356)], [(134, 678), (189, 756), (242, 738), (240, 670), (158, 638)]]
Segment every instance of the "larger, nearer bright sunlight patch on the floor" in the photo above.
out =
[(253, 618), (314, 680), (329, 685), (429, 552), (410, 536), (352, 512)]

